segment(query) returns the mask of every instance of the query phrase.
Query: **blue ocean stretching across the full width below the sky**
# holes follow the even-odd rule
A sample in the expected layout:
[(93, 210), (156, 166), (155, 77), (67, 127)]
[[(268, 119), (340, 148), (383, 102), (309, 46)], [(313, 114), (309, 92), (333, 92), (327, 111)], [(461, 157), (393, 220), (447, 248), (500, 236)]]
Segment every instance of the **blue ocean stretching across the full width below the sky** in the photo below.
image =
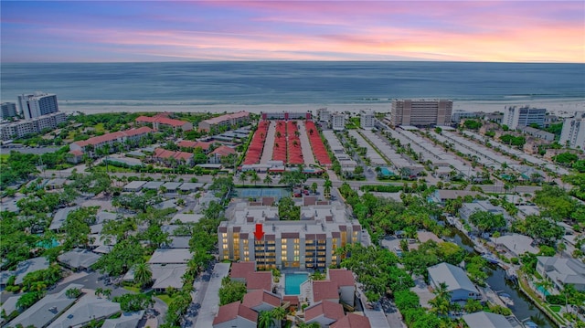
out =
[[(36, 90), (70, 111), (295, 105), (388, 107), (393, 98), (454, 104), (585, 103), (585, 64), (476, 62), (3, 63), (1, 101)], [(503, 107), (502, 107), (503, 108)]]

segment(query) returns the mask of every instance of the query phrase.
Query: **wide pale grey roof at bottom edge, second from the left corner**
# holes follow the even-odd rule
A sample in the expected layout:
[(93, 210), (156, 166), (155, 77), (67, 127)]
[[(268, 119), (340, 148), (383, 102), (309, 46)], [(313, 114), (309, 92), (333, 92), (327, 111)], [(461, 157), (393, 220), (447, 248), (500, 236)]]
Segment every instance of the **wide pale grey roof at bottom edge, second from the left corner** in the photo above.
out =
[(89, 323), (92, 319), (99, 320), (120, 312), (120, 303), (93, 295), (85, 295), (69, 310), (61, 314), (49, 328), (69, 328), (83, 323)]

